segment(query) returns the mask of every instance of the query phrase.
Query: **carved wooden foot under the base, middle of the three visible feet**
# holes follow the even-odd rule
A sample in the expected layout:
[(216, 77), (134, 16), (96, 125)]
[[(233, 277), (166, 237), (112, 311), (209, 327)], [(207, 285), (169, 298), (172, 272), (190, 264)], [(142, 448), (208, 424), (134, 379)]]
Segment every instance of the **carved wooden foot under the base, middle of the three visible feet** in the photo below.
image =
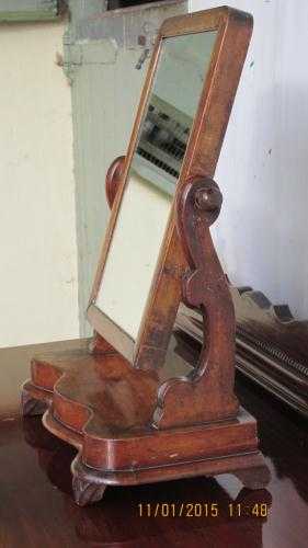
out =
[(85, 506), (100, 501), (105, 492), (106, 486), (100, 480), (94, 470), (84, 466), (79, 456), (71, 464), (72, 494), (76, 504)]

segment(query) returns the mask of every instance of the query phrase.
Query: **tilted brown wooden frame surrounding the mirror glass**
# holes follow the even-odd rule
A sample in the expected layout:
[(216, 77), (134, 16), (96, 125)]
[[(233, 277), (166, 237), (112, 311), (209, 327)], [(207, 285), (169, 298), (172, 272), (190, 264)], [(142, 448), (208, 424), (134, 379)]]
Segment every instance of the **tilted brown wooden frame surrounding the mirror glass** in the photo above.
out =
[[(206, 31), (217, 31), (217, 37), (176, 183), (150, 294), (135, 341), (95, 306), (96, 297), (128, 181), (140, 124), (151, 92), (162, 41)], [(171, 18), (162, 24), (158, 34), (87, 310), (88, 319), (94, 330), (135, 367), (148, 368), (153, 363), (161, 364), (164, 359), (182, 298), (182, 277), (187, 267), (176, 230), (174, 206), (176, 195), (194, 180), (214, 175), (251, 32), (250, 14), (223, 7), (192, 13), (189, 16)]]

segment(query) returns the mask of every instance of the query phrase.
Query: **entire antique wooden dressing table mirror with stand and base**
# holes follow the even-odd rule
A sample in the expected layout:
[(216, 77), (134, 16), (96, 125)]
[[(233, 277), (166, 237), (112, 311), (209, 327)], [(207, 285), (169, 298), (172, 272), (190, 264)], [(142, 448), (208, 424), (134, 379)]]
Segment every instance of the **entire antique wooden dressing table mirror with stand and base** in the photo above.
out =
[[(252, 31), (217, 8), (167, 20), (125, 158), (88, 307), (90, 342), (32, 361), (24, 414), (78, 449), (76, 502), (107, 486), (232, 472), (263, 488), (255, 420), (233, 393), (235, 312), (209, 227), (213, 181)], [(198, 355), (173, 333), (180, 302), (203, 313)]]

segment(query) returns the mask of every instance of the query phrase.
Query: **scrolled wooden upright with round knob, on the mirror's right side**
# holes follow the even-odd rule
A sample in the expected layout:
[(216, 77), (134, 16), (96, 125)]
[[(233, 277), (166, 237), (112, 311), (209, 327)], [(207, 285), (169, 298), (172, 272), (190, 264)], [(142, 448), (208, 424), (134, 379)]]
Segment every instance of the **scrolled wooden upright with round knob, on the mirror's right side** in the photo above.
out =
[(204, 344), (197, 367), (189, 377), (173, 378), (158, 391), (153, 425), (159, 429), (235, 418), (235, 310), (209, 226), (223, 203), (218, 185), (197, 179), (179, 192), (176, 222), (189, 270), (183, 279), (186, 306), (199, 308)]

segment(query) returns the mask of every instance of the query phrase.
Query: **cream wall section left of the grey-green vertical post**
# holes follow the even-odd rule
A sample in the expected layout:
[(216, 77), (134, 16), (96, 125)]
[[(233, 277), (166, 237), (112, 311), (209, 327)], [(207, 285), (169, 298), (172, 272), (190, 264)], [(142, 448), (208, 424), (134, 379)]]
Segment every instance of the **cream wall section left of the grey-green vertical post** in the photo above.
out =
[(78, 336), (65, 23), (0, 26), (0, 346)]

